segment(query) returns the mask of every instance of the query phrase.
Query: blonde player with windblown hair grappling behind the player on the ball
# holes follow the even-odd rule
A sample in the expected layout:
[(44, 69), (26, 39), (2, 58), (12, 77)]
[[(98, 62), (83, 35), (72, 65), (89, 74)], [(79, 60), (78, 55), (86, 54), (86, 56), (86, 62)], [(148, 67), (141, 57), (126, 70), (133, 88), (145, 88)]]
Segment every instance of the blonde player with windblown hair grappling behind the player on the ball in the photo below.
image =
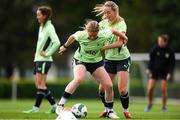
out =
[[(96, 5), (94, 8), (97, 16), (102, 15), (102, 21), (99, 23), (101, 29), (115, 28), (119, 32), (126, 34), (126, 23), (119, 15), (119, 7), (113, 1), (106, 1), (104, 4)], [(112, 36), (107, 44), (111, 44), (118, 40), (117, 36)], [(126, 46), (127, 40), (124, 40), (124, 45), (114, 49), (105, 51), (105, 69), (108, 72), (111, 80), (118, 76), (118, 90), (120, 94), (120, 101), (124, 108), (124, 115), (126, 118), (131, 118), (128, 110), (129, 107), (129, 94), (128, 94), (128, 76), (130, 67), (130, 53)], [(99, 86), (99, 96), (104, 103), (104, 87), (102, 84)], [(101, 113), (100, 117), (106, 117), (107, 110)]]

